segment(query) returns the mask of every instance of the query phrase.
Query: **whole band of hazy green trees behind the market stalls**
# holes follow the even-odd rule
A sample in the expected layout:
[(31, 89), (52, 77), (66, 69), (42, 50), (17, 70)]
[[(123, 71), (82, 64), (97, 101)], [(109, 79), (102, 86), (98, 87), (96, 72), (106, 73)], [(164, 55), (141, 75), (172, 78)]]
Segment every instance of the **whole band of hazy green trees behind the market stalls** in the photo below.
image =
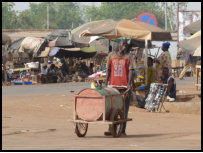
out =
[[(187, 2), (179, 2), (184, 8)], [(13, 10), (14, 2), (2, 3), (2, 28), (46, 29), (49, 7), (50, 29), (72, 29), (85, 22), (104, 19), (135, 19), (139, 14), (154, 14), (158, 26), (165, 27), (164, 2), (102, 2), (101, 6), (81, 5), (76, 2), (40, 2), (29, 4), (22, 12)], [(177, 2), (168, 2), (168, 30), (176, 29)]]

